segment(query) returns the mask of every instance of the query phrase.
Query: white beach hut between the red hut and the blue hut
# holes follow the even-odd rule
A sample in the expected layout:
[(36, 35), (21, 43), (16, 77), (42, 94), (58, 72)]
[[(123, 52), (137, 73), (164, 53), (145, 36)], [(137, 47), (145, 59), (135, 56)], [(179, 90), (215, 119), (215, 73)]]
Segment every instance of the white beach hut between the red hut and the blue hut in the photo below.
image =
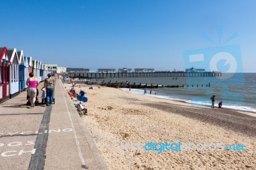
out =
[(11, 58), (10, 65), (10, 98), (19, 94), (19, 58), (16, 49), (8, 49)]

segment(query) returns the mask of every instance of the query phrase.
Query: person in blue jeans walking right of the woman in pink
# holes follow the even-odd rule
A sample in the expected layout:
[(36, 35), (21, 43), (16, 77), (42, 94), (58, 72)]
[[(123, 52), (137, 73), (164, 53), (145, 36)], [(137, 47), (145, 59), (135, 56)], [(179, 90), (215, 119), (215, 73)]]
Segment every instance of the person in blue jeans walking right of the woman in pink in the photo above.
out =
[(44, 87), (46, 89), (46, 105), (52, 106), (53, 93), (54, 93), (54, 80), (51, 77), (51, 73), (47, 74), (47, 79), (44, 80)]

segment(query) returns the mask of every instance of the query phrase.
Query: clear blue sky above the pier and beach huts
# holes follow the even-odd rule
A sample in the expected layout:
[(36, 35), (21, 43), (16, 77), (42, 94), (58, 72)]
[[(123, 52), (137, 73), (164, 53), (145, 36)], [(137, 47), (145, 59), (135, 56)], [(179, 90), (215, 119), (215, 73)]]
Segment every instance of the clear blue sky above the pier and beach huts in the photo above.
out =
[(255, 16), (254, 0), (1, 1), (0, 46), (59, 66), (184, 70), (186, 50), (239, 44), (256, 72)]

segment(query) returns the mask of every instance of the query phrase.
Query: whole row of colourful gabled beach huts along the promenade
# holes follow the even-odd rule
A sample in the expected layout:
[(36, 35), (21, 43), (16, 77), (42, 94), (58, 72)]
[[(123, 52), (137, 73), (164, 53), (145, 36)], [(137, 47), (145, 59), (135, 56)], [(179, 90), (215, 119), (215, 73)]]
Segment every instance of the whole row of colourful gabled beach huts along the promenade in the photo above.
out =
[(47, 66), (31, 56), (24, 56), (23, 50), (0, 47), (0, 61), (0, 103), (26, 90), (30, 72), (38, 81), (47, 77)]

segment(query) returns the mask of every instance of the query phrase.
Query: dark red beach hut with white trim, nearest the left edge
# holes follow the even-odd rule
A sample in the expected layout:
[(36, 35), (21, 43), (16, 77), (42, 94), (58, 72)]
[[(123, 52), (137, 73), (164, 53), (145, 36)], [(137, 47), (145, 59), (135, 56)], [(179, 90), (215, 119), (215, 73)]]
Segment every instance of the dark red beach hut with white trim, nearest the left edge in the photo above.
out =
[(0, 102), (10, 98), (10, 61), (6, 47), (0, 47)]

